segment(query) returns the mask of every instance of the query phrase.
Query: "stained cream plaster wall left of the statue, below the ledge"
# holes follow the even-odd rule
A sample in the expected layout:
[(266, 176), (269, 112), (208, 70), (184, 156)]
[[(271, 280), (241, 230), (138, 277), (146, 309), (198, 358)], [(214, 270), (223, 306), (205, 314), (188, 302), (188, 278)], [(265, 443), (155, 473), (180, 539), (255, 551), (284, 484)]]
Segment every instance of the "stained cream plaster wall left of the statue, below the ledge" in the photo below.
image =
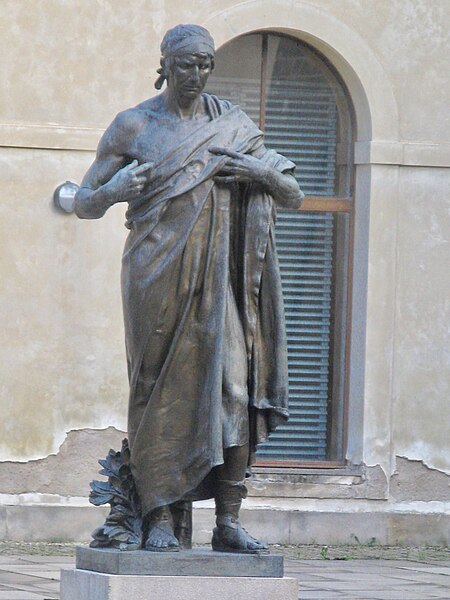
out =
[(0, 456), (58, 451), (71, 429), (126, 428), (120, 208), (101, 221), (57, 213), (85, 152), (0, 148)]

